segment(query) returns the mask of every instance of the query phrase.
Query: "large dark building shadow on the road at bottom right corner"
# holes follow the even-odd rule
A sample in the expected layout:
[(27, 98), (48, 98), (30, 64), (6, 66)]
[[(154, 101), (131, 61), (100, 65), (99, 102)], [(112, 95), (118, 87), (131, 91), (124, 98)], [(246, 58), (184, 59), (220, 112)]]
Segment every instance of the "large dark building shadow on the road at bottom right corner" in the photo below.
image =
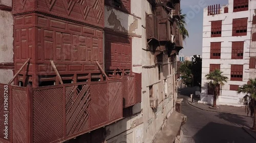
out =
[(241, 127), (210, 122), (193, 139), (197, 143), (253, 143), (255, 140)]

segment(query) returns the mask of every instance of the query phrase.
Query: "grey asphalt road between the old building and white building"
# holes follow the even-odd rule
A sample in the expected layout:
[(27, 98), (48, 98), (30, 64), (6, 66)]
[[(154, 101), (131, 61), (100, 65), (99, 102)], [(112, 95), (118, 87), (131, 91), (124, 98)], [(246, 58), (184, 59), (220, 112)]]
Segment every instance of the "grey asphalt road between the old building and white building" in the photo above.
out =
[[(181, 92), (189, 95), (191, 89)], [(187, 116), (187, 122), (181, 129), (181, 143), (256, 143), (242, 126), (252, 126), (249, 117), (200, 110), (183, 100), (181, 112)]]

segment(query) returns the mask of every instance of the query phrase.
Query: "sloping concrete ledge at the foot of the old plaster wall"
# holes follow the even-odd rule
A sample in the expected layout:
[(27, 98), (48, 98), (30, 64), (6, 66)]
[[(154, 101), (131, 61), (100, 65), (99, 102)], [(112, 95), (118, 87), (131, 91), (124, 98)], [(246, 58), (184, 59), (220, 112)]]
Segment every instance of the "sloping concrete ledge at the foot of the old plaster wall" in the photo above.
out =
[(174, 111), (166, 120), (166, 126), (157, 134), (153, 143), (174, 142), (180, 131), (183, 117), (183, 114)]

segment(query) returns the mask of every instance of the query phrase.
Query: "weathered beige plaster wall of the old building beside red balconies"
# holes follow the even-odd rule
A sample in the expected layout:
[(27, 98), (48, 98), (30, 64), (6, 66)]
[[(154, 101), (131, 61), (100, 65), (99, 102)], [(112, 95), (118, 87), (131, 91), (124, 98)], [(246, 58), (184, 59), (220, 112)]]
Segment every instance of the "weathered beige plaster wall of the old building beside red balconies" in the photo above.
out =
[[(159, 80), (155, 56), (145, 50), (145, 13), (152, 13), (152, 7), (146, 0), (132, 0), (130, 15), (105, 6), (105, 28), (132, 36), (133, 72), (142, 72), (142, 102), (133, 107), (133, 112), (137, 114), (107, 126), (107, 142), (152, 142), (163, 126), (165, 117), (169, 117), (174, 110), (174, 77), (169, 74), (169, 59), (162, 57), (165, 66)], [(150, 107), (150, 85), (153, 85), (153, 96), (159, 99), (155, 109)]]

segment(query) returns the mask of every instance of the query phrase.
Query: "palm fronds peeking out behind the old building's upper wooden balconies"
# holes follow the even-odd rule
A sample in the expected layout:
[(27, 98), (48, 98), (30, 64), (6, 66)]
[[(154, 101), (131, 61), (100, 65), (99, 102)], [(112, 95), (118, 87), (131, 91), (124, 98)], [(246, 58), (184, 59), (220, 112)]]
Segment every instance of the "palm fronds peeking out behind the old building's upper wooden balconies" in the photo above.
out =
[(181, 12), (182, 12), (182, 10), (180, 10), (180, 19), (175, 18), (175, 21), (177, 22), (177, 25), (178, 25), (178, 28), (182, 35), (183, 40), (185, 40), (186, 37), (189, 37), (188, 31), (186, 30), (186, 27), (185, 27), (187, 25), (186, 14), (182, 14)]

